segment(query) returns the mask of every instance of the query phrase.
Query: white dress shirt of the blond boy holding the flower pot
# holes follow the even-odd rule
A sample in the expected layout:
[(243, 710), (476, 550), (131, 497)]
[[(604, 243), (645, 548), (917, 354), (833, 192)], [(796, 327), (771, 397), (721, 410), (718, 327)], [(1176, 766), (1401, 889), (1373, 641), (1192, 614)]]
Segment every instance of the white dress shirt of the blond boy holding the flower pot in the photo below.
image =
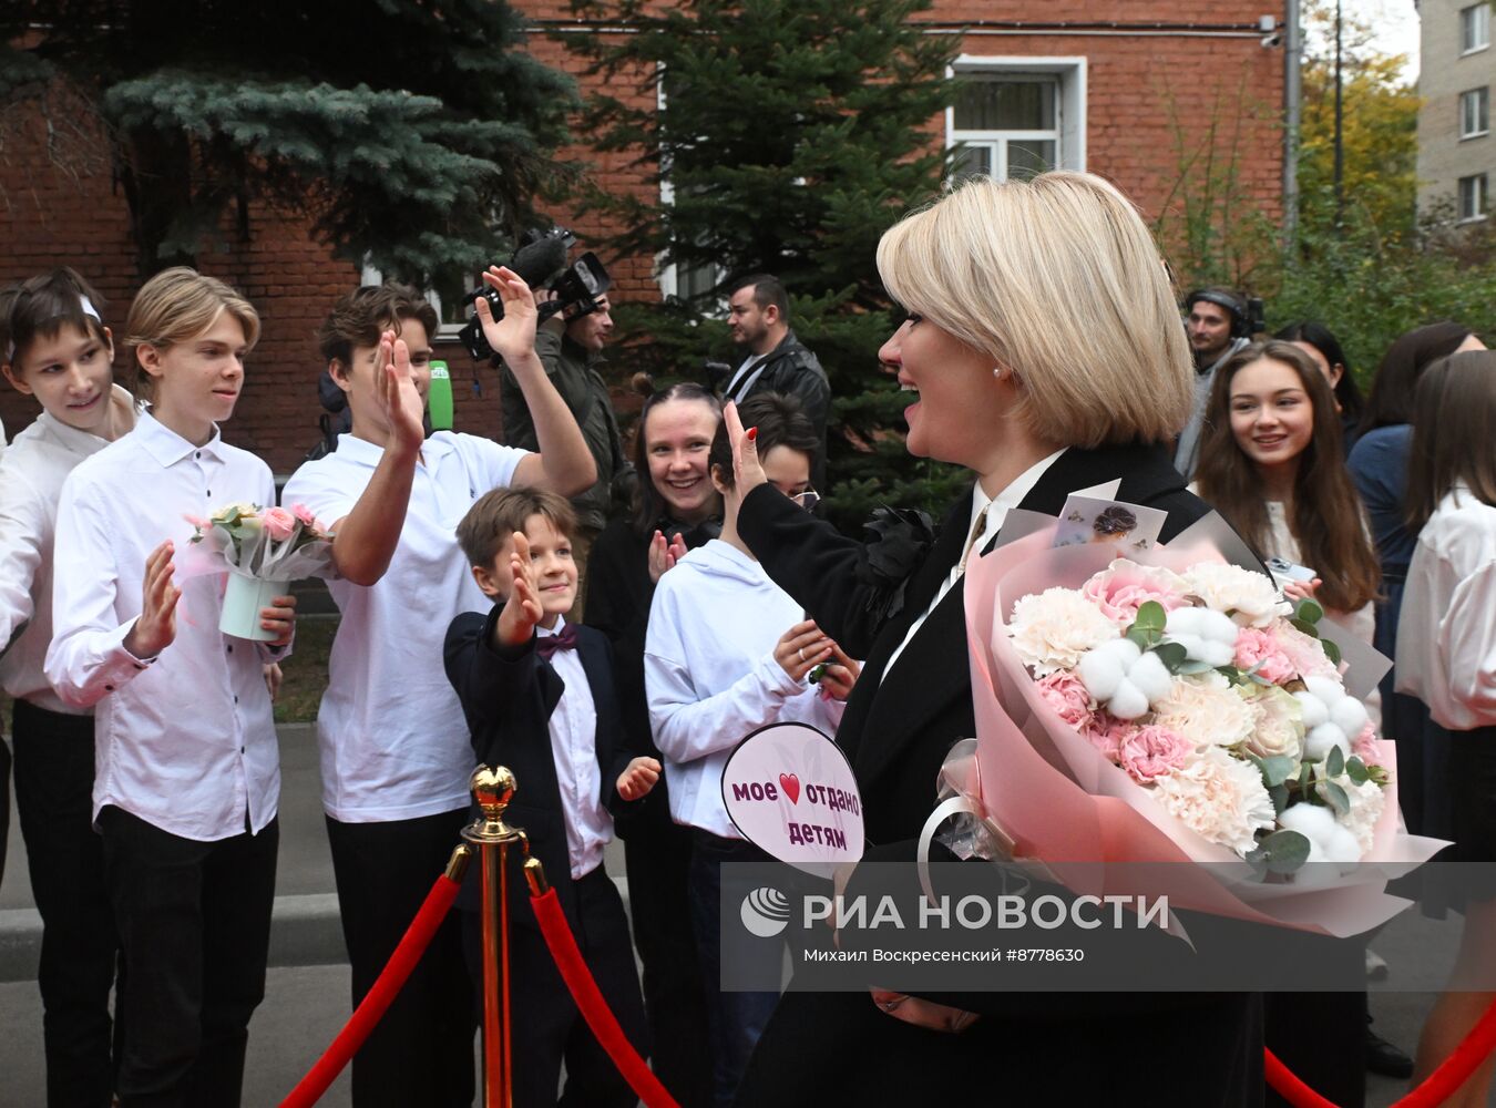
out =
[(141, 416), (84, 459), (57, 508), (52, 646), (58, 695), (97, 706), (93, 813), (105, 804), (184, 839), (253, 831), (280, 800), (280, 749), (262, 673), (266, 653), (218, 631), (227, 574), (178, 580), (177, 638), (154, 659), (124, 649), (141, 615), (145, 559), (224, 504), (272, 504), (269, 467), (214, 429), (193, 446)]

